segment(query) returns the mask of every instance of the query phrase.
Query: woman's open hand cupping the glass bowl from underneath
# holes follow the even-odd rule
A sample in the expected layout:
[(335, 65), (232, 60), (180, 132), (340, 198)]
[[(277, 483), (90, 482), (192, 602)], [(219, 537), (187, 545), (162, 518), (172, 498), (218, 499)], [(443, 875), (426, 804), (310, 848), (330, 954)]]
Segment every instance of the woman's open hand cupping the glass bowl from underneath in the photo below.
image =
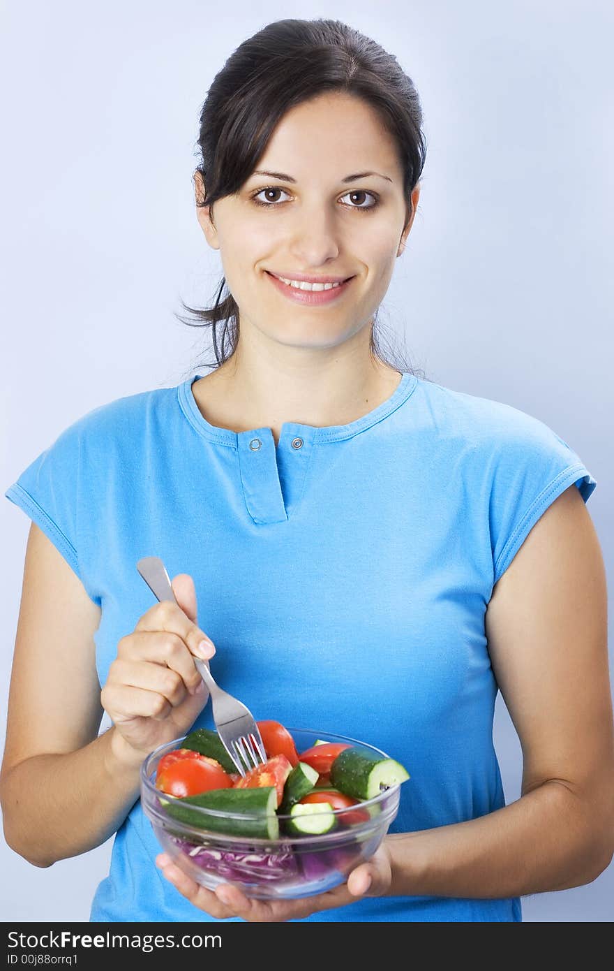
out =
[(188, 877), (168, 854), (158, 854), (155, 863), (179, 893), (216, 921), (229, 917), (241, 917), (243, 921), (297, 921), (316, 911), (343, 907), (365, 896), (383, 896), (392, 881), (391, 857), (385, 842), (371, 859), (352, 870), (345, 884), (298, 900), (254, 900), (232, 884), (220, 884), (214, 890), (208, 890)]

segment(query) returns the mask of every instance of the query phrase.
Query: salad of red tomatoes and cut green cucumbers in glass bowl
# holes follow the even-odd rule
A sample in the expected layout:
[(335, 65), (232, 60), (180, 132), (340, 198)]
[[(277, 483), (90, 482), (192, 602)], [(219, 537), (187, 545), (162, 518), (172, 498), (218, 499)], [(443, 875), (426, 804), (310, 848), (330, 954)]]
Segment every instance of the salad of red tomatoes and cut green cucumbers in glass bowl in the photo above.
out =
[[(257, 724), (268, 758), (245, 776), (237, 773), (210, 728), (195, 729), (180, 748), (160, 759), (155, 787), (170, 817), (204, 831), (247, 839), (320, 836), (369, 822), (378, 811), (369, 801), (409, 779), (400, 762), (360, 745), (318, 740), (299, 753), (280, 722)], [(164, 799), (163, 794), (174, 798)], [(201, 809), (214, 811), (207, 817), (206, 830)], [(284, 854), (270, 855), (275, 870)]]

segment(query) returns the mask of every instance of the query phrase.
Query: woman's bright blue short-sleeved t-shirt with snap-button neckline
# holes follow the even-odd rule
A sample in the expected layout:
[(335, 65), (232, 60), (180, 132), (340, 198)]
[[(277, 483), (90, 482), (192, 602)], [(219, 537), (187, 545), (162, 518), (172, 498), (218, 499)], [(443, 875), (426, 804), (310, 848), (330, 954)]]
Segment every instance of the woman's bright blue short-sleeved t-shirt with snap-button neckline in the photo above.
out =
[[(498, 685), (484, 615), (534, 523), (597, 483), (538, 419), (403, 374), (361, 419), (235, 432), (192, 384), (95, 408), (5, 493), (102, 610), (101, 686), (155, 602), (136, 569), (190, 574), (219, 684), (257, 719), (362, 739), (407, 768), (391, 832), (504, 805)], [(195, 723), (212, 726), (208, 704)], [(210, 921), (154, 863), (138, 800), (113, 843), (92, 921)], [(521, 921), (518, 897), (368, 898), (307, 921)]]

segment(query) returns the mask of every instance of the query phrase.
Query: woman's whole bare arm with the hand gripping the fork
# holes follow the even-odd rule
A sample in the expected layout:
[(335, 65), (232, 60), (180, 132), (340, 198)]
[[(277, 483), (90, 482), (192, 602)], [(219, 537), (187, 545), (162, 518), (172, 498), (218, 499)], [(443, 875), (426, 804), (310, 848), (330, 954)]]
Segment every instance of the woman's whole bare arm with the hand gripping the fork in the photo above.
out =
[[(202, 684), (191, 654), (214, 649), (199, 652), (207, 635), (192, 622), (192, 581), (176, 581), (180, 606), (156, 603), (122, 638), (101, 693), (94, 643), (100, 608), (31, 525), (0, 803), (7, 843), (35, 866), (112, 836), (139, 797), (145, 755), (184, 734), (204, 707), (207, 692), (189, 690)], [(178, 589), (186, 591), (183, 601)], [(113, 727), (98, 736), (103, 704)]]

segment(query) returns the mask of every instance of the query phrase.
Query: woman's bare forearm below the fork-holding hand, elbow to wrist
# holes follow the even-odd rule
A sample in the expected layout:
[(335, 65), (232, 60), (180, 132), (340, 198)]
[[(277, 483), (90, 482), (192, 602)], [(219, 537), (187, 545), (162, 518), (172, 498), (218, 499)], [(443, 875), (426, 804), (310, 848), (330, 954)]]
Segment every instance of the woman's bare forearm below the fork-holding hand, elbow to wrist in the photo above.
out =
[(43, 867), (100, 846), (139, 797), (139, 766), (115, 728), (76, 752), (26, 758), (3, 782), (7, 843)]

